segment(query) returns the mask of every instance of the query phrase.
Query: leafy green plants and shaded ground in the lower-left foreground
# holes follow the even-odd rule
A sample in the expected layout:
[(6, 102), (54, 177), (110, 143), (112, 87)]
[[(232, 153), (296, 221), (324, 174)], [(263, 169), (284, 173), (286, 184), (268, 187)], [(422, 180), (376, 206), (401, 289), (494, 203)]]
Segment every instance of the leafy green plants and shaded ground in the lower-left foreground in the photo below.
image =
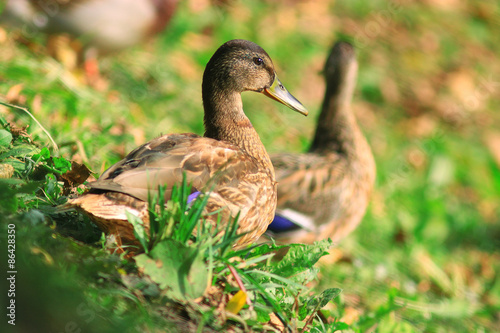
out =
[[(9, 137), (10, 131), (0, 134)], [(139, 247), (115, 248), (111, 238), (96, 238), (95, 227), (80, 221), (81, 216), (53, 207), (64, 200), (61, 193), (77, 185), (68, 181), (78, 173), (75, 165), (51, 156), (47, 148), (33, 147), (26, 137), (11, 135), (3, 141), (3, 165), (19, 175), (0, 179), (0, 209), (6, 222), (3, 236), (10, 245), (8, 270), (19, 274), (14, 287), (10, 285), (9, 302), (14, 299), (20, 309), (21, 331), (81, 329), (71, 320), (75, 314), (84, 317), (79, 319), (85, 329), (103, 332), (173, 329), (179, 322), (189, 331), (266, 330), (271, 313), (292, 331), (338, 326), (316, 316), (341, 290), (327, 288), (318, 295), (309, 286), (318, 274), (313, 266), (328, 253), (330, 240), (290, 247), (264, 243), (235, 251), (232, 245), (243, 236), (236, 234), (238, 217), (226, 226), (205, 222), (201, 216), (208, 197), (188, 205), (191, 191), (184, 181), (173, 188), (167, 207), (165, 188), (149, 198), (149, 234), (142, 220), (129, 215)], [(26, 153), (19, 154), (21, 149)], [(282, 255), (276, 260), (278, 252)], [(243, 296), (231, 282), (231, 270), (246, 285)], [(58, 284), (59, 279), (64, 283)], [(252, 307), (245, 305), (247, 297)], [(58, 298), (61, 302), (55, 305)], [(35, 320), (19, 320), (30, 311), (36, 312)], [(107, 321), (96, 322), (96, 312)], [(155, 316), (160, 323), (151, 321)]]

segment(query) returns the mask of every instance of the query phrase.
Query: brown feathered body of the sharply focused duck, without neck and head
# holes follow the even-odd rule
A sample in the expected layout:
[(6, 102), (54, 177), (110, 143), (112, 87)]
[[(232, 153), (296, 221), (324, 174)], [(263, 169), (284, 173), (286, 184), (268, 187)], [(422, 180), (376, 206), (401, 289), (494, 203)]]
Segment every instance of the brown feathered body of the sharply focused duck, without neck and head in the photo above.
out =
[(246, 234), (238, 244), (255, 240), (271, 222), (276, 209), (272, 170), (237, 146), (195, 134), (164, 135), (138, 147), (64, 208), (80, 209), (104, 232), (134, 243), (126, 212), (141, 218), (149, 229), (148, 194), (166, 185), (168, 201), (183, 174), (192, 185), (191, 199), (199, 192), (210, 193), (205, 206), (208, 220), (219, 223), (220, 218), (225, 223), (239, 214), (238, 232)]

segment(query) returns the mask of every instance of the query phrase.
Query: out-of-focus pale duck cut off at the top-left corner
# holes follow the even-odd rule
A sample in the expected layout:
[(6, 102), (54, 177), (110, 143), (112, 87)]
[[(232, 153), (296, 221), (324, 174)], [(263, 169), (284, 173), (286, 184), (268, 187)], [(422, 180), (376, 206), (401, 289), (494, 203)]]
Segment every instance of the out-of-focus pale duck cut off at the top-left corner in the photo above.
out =
[(56, 59), (62, 58), (63, 53), (58, 49), (57, 36), (67, 34), (77, 39), (77, 57), (81, 59), (76, 62), (80, 64), (68, 67), (83, 66), (93, 75), (98, 56), (134, 46), (163, 31), (177, 3), (178, 0), (7, 0), (0, 22), (20, 29), (27, 39), (38, 33), (49, 35), (48, 49)]

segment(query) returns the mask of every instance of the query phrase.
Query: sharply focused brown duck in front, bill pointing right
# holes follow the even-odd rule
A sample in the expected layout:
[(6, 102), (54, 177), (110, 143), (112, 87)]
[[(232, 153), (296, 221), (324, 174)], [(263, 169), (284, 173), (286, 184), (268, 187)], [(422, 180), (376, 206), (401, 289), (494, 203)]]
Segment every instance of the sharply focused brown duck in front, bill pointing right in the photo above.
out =
[[(245, 235), (236, 246), (252, 243), (274, 217), (277, 183), (269, 155), (243, 112), (243, 91), (263, 93), (307, 115), (260, 46), (229, 41), (215, 52), (203, 75), (204, 137), (167, 134), (153, 139), (111, 166), (89, 184), (87, 194), (68, 205), (82, 210), (104, 232), (134, 243), (125, 211), (141, 217), (148, 229), (148, 193), (156, 193), (158, 185), (170, 190), (185, 174), (194, 196), (209, 195), (207, 214), (221, 209), (222, 221), (240, 214), (237, 232)], [(217, 216), (207, 219), (215, 223)]]

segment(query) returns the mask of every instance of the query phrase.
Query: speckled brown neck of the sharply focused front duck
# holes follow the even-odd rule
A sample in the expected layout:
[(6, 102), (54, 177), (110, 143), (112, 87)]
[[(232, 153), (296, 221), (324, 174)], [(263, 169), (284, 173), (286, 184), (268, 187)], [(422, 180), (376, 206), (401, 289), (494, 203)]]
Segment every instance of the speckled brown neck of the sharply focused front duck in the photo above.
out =
[(204, 86), (203, 106), (205, 137), (240, 147), (263, 163), (266, 168), (272, 165), (259, 135), (243, 112), (239, 92), (222, 93), (217, 89), (207, 89)]

